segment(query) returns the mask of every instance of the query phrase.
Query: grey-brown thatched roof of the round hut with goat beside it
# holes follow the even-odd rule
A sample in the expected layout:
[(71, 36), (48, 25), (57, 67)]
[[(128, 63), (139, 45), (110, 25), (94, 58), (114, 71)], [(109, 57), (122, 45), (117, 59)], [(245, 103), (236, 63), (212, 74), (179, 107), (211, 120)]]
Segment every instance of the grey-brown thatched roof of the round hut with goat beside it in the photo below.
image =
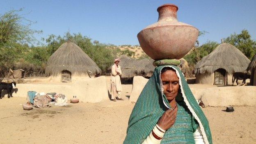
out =
[(235, 46), (222, 43), (197, 63), (194, 73), (213, 73), (217, 69), (225, 69), (229, 74), (243, 72), (249, 62), (250, 60)]

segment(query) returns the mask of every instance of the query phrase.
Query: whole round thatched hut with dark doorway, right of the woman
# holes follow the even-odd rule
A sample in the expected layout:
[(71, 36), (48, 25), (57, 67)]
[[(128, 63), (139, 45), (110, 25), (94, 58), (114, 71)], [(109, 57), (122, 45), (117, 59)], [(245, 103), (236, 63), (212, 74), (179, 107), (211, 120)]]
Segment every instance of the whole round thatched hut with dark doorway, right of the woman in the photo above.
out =
[(235, 46), (222, 43), (203, 57), (194, 69), (196, 83), (228, 85), (235, 72), (244, 72), (250, 60)]

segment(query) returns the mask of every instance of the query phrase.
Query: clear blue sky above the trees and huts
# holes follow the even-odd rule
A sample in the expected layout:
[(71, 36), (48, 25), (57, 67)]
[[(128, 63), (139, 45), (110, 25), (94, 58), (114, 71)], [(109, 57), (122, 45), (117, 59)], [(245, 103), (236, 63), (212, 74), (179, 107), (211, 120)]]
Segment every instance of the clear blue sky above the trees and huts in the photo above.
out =
[(78, 33), (114, 45), (137, 45), (137, 33), (158, 20), (156, 9), (163, 4), (178, 6), (178, 21), (208, 33), (201, 44), (217, 41), (247, 29), (256, 39), (256, 0), (0, 0), (0, 14), (25, 9), (24, 17), (37, 21), (43, 30), (37, 39), (50, 34)]

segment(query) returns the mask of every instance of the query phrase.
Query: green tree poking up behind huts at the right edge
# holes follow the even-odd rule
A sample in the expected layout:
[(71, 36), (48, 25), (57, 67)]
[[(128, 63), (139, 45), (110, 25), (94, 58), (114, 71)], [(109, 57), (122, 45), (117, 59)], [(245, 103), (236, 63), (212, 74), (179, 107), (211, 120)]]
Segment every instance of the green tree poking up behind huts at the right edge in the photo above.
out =
[(240, 34), (231, 34), (224, 39), (224, 42), (230, 43), (238, 48), (246, 57), (251, 59), (256, 54), (256, 41), (251, 39), (248, 30), (242, 30)]

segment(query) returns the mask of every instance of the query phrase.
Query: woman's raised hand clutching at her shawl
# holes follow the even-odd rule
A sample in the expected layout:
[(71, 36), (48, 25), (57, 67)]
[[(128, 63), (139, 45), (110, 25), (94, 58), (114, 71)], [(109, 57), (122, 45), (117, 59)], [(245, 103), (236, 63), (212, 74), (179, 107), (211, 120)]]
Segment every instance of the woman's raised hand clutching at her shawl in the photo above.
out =
[(158, 126), (160, 126), (160, 128), (163, 130), (168, 130), (171, 128), (171, 126), (174, 125), (176, 121), (177, 110), (178, 108), (175, 107), (174, 110), (169, 109), (165, 111), (162, 117), (158, 120)]

